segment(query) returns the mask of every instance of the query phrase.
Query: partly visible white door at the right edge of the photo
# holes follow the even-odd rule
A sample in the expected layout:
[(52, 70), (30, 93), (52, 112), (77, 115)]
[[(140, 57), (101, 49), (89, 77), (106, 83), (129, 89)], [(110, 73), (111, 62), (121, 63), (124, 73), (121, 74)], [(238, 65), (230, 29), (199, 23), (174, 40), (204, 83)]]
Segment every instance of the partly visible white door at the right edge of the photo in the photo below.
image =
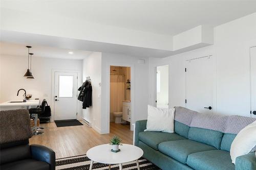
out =
[(251, 116), (256, 118), (256, 46), (250, 48), (251, 58)]

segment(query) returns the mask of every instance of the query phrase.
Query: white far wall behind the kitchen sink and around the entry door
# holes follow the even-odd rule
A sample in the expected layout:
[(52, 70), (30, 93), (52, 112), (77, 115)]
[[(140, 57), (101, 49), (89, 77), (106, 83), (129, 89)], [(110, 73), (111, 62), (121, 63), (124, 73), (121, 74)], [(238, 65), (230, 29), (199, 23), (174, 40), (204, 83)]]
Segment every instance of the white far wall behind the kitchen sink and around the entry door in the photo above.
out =
[[(82, 70), (82, 60), (67, 60), (54, 58), (33, 57), (32, 72), (35, 79), (23, 77), (27, 70), (28, 58), (26, 56), (1, 55), (0, 62), (0, 102), (22, 99), (22, 94), (17, 95), (20, 88), (24, 88), (27, 94), (32, 94), (32, 99), (46, 99), (50, 105), (52, 102), (52, 69), (58, 70)], [(80, 75), (81, 76), (81, 75)], [(78, 84), (81, 77), (78, 78)], [(53, 108), (52, 108), (53, 109)], [(81, 119), (81, 106), (78, 103), (78, 119)]]

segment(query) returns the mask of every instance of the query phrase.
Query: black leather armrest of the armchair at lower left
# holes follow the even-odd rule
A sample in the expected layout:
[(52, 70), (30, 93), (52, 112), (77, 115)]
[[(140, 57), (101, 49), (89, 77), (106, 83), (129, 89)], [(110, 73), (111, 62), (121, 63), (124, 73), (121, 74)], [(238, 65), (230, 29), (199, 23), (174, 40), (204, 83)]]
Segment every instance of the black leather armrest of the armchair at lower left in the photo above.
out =
[(55, 152), (43, 145), (30, 145), (32, 159), (44, 161), (50, 164), (50, 170), (55, 169)]

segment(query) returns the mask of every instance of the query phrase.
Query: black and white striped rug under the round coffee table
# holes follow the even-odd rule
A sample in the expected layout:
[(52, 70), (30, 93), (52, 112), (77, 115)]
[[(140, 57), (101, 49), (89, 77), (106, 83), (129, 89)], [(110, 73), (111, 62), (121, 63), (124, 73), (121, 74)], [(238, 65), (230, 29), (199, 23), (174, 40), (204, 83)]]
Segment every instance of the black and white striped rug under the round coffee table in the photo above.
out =
[[(67, 158), (56, 159), (56, 170), (66, 169), (66, 170), (85, 170), (89, 169), (91, 160), (86, 155), (73, 156)], [(139, 159), (141, 170), (158, 170), (160, 169), (156, 165), (152, 164), (150, 161), (140, 158)], [(94, 163), (93, 169), (109, 169), (108, 164)], [(111, 165), (111, 170), (119, 169), (119, 165)], [(136, 162), (123, 163), (123, 170), (137, 169)]]

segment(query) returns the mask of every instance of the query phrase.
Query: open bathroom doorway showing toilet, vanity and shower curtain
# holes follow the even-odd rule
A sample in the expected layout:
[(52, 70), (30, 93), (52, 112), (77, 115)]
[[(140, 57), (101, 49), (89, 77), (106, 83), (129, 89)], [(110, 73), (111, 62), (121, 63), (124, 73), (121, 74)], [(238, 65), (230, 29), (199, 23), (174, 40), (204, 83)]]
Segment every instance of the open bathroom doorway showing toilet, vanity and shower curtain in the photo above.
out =
[(131, 67), (110, 66), (110, 131), (130, 129)]

